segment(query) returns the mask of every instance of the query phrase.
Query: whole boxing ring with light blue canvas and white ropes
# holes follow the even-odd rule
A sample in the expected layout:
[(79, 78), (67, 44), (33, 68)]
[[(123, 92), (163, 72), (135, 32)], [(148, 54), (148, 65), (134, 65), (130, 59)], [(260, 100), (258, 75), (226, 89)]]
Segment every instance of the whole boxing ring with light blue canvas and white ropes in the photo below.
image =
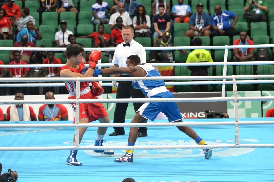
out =
[[(261, 45), (264, 46), (264, 45)], [(211, 46), (212, 47), (212, 46)], [(254, 46), (253, 46), (254, 47)], [(176, 47), (178, 49), (178, 47)], [(193, 48), (192, 48), (193, 49)], [(269, 61), (270, 62), (270, 61)], [(163, 63), (162, 63), (163, 64)], [(169, 63), (167, 63), (169, 64)], [(171, 63), (170, 63), (171, 64)], [(172, 65), (186, 63), (172, 63)], [(204, 63), (205, 65), (208, 63)], [(215, 63), (230, 64), (230, 63)], [(234, 63), (235, 64), (235, 63)], [(237, 63), (236, 63), (237, 64)], [(238, 63), (241, 64), (241, 63)], [(254, 64), (254, 63), (250, 63)], [(264, 63), (262, 63), (264, 64)], [(274, 63), (273, 63), (274, 64)], [(160, 64), (159, 64), (160, 65)], [(193, 65), (193, 64), (192, 64)], [(201, 65), (201, 64), (200, 64)], [(16, 65), (12, 65), (16, 66)], [(22, 65), (21, 65), (22, 66)], [(37, 65), (33, 65), (37, 67)], [(41, 67), (47, 67), (43, 65)], [(53, 65), (60, 66), (60, 65)], [(100, 66), (100, 65), (99, 65)], [(106, 66), (108, 66), (106, 64)], [(30, 65), (28, 65), (30, 67)], [(216, 80), (206, 82), (168, 82), (167, 84), (233, 84), (232, 97), (212, 98), (170, 98), (170, 99), (102, 99), (98, 100), (0, 100), (0, 104), (56, 104), (75, 102), (234, 102), (235, 117), (224, 119), (186, 119), (184, 123), (168, 123), (167, 120), (156, 120), (148, 123), (131, 124), (76, 124), (71, 121), (31, 121), (0, 122), (0, 161), (3, 171), (16, 170), (20, 182), (31, 181), (122, 181), (126, 177), (143, 182), (177, 182), (177, 181), (274, 181), (273, 153), (273, 118), (239, 118), (239, 101), (269, 101), (273, 97), (238, 97), (237, 84), (263, 83), (265, 80), (241, 80), (251, 78), (272, 78), (273, 75), (242, 76), (172, 76), (164, 80)], [(53, 82), (76, 81), (79, 93), (80, 81), (112, 80), (162, 80), (159, 77), (140, 78), (4, 78), (1, 82)], [(274, 82), (274, 80), (267, 80)], [(108, 85), (110, 83), (103, 83)], [(38, 83), (31, 84), (39, 86)], [(45, 86), (46, 84), (43, 84)], [(48, 84), (50, 85), (50, 84)], [(110, 84), (111, 85), (111, 84)], [(12, 86), (1, 84), (1, 86)], [(18, 86), (18, 85), (17, 85)], [(30, 86), (30, 84), (22, 84)], [(41, 85), (42, 86), (42, 85)], [(60, 86), (51, 84), (51, 86)], [(63, 86), (63, 84), (62, 84)], [(77, 108), (77, 107), (76, 107)], [(79, 111), (76, 109), (76, 112)], [(148, 127), (148, 137), (138, 138), (136, 145), (126, 146), (129, 127)], [(175, 126), (192, 127), (208, 146), (198, 146), (195, 141)], [(95, 147), (97, 127), (110, 127), (103, 147)], [(112, 127), (124, 126), (126, 135), (109, 137)], [(88, 127), (81, 144), (76, 137), (76, 146), (72, 147), (72, 138), (79, 127)], [(77, 135), (76, 135), (77, 136)], [(94, 153), (95, 149), (114, 150), (113, 156)], [(205, 160), (202, 149), (212, 148), (213, 156)], [(68, 150), (77, 149), (77, 159), (83, 166), (65, 165)], [(115, 163), (115, 158), (124, 155), (126, 149), (134, 149), (134, 162), (130, 164)]]

